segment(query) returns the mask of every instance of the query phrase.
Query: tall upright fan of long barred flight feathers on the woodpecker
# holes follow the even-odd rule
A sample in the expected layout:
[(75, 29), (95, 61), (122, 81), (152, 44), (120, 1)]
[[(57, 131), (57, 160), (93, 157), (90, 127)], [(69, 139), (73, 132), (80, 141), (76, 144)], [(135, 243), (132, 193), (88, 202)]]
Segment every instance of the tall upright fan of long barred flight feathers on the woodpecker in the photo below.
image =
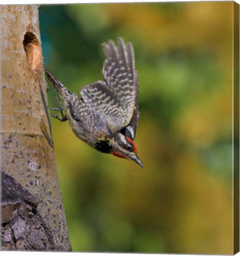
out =
[(118, 47), (112, 40), (103, 43), (106, 60), (103, 63), (103, 76), (106, 84), (122, 107), (121, 129), (129, 126), (131, 139), (134, 139), (138, 121), (138, 75), (135, 71), (132, 44), (124, 44), (118, 39)]

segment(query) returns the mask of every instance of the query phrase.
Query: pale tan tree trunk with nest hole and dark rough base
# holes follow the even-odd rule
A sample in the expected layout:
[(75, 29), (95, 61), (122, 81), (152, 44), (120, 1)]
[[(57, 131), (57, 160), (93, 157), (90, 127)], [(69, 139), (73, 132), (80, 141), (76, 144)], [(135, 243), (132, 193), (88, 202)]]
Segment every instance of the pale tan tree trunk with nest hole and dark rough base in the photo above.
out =
[(1, 249), (70, 251), (37, 5), (1, 7)]

